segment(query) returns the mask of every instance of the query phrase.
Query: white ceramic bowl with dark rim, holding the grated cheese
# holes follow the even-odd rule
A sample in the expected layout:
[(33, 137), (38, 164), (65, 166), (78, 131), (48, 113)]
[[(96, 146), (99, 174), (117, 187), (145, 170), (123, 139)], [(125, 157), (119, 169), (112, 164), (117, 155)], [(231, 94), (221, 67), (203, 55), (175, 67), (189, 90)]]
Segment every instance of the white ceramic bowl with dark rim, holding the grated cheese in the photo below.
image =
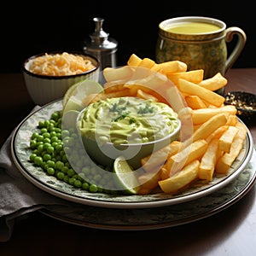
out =
[[(48, 55), (62, 54), (63, 52), (50, 52)], [(85, 55), (79, 52), (69, 52), (68, 54), (82, 56), (85, 60), (89, 60), (95, 67), (84, 73), (72, 75), (42, 75), (32, 73), (30, 68), (32, 61), (38, 56), (43, 56), (45, 53), (33, 55), (27, 58), (22, 65), (26, 89), (32, 98), (32, 101), (39, 106), (43, 106), (49, 102), (61, 99), (65, 95), (67, 89), (75, 83), (84, 79), (98, 81), (99, 79), (99, 61), (92, 55)]]

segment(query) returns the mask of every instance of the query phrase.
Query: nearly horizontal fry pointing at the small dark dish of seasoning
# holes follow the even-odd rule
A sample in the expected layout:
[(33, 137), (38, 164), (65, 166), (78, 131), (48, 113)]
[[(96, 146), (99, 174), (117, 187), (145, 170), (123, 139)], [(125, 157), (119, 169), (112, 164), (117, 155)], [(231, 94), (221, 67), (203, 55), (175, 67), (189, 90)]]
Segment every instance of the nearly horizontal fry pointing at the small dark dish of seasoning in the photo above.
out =
[(225, 105), (220, 108), (200, 108), (191, 111), (191, 119), (194, 125), (203, 124), (218, 113), (236, 114), (237, 109), (233, 105)]

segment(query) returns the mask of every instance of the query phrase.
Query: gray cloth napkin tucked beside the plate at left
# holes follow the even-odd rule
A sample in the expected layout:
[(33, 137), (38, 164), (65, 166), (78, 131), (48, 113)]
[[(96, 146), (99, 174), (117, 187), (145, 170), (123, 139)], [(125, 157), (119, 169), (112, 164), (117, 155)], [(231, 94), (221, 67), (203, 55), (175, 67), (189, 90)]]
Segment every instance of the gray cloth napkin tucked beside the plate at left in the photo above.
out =
[(14, 131), (0, 149), (0, 241), (9, 240), (15, 219), (24, 218), (28, 212), (47, 207), (70, 207), (68, 201), (38, 189), (20, 173), (11, 155), (13, 134)]

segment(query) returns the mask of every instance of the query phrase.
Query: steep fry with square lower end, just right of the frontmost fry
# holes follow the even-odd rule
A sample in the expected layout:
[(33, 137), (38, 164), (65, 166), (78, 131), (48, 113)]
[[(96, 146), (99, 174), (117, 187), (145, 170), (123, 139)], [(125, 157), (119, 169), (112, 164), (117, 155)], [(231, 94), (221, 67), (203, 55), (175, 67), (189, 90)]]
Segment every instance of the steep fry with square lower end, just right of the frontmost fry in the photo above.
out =
[(208, 144), (207, 151), (201, 158), (199, 166), (198, 177), (207, 181), (212, 180), (212, 176), (215, 170), (218, 150), (218, 138), (212, 139)]

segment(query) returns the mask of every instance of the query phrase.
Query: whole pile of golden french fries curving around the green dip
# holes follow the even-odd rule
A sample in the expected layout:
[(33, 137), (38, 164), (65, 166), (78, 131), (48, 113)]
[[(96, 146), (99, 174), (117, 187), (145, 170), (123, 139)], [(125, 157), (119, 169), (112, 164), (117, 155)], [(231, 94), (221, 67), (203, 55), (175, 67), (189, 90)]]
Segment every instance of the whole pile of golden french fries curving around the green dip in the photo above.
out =
[(141, 160), (139, 194), (155, 189), (177, 194), (197, 180), (210, 182), (214, 174), (228, 174), (247, 128), (237, 119), (236, 107), (224, 105), (224, 96), (215, 92), (228, 82), (221, 73), (203, 79), (202, 69), (187, 71), (182, 61), (157, 64), (132, 54), (127, 66), (106, 67), (103, 74), (104, 91), (84, 98), (84, 105), (119, 96), (150, 98), (169, 104), (182, 121), (178, 141)]

